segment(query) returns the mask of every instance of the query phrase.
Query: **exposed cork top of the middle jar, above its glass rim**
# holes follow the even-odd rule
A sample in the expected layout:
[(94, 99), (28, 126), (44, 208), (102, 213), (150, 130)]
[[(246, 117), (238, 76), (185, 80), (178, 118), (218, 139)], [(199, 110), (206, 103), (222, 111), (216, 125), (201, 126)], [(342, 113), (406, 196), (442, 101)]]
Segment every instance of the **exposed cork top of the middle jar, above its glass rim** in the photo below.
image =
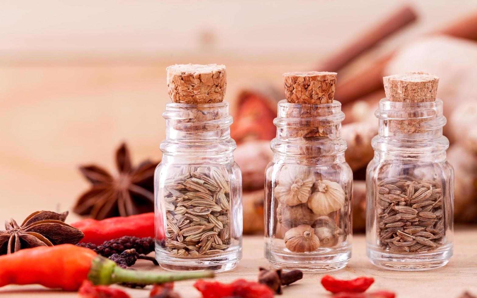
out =
[(287, 72), (283, 74), (289, 103), (332, 103), (336, 72)]

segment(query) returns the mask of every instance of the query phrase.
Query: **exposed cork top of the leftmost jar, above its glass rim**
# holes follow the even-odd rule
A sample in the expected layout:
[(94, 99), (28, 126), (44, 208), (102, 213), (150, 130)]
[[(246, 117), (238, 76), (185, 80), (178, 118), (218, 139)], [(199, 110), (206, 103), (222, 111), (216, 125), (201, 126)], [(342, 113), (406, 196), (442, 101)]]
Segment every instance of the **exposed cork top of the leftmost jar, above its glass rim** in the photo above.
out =
[(166, 68), (174, 103), (220, 103), (227, 88), (225, 65), (176, 64)]

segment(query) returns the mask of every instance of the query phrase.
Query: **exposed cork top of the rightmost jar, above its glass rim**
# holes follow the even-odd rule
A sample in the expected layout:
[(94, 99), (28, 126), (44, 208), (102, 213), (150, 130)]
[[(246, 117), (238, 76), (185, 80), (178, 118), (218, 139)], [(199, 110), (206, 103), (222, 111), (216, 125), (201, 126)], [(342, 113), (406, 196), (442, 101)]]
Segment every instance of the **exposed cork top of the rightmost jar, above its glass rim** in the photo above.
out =
[(406, 72), (383, 78), (384, 92), (392, 102), (423, 103), (436, 101), (439, 77), (425, 72)]

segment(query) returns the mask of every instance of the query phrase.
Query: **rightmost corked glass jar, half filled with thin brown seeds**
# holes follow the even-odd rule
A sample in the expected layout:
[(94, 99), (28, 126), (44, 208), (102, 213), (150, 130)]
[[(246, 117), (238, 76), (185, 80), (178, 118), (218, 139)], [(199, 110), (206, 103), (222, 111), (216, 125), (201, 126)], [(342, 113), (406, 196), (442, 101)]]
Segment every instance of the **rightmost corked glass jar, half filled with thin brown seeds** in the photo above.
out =
[(366, 171), (367, 255), (378, 267), (431, 269), (453, 253), (454, 170), (437, 83), (426, 73), (384, 77)]

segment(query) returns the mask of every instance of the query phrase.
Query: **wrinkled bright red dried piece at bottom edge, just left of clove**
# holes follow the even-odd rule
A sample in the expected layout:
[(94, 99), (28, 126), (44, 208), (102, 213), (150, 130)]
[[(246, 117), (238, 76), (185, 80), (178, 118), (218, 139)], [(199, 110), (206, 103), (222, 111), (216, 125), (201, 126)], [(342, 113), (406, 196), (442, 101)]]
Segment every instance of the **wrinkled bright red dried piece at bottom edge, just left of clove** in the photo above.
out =
[(203, 298), (273, 298), (273, 291), (269, 287), (245, 279), (237, 279), (230, 284), (199, 279), (194, 287), (202, 293)]

